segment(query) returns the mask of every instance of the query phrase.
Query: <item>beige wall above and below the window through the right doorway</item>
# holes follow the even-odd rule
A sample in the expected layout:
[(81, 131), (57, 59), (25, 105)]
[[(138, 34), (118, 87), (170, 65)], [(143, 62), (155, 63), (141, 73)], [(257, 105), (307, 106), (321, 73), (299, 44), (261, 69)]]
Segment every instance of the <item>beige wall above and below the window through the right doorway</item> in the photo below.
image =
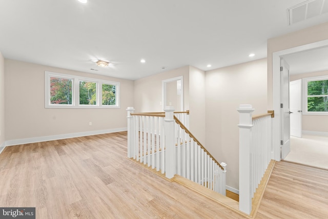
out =
[[(305, 77), (328, 75), (328, 70), (295, 74), (290, 76), (290, 81)], [(315, 132), (328, 132), (328, 116), (326, 115), (302, 115), (302, 130)]]

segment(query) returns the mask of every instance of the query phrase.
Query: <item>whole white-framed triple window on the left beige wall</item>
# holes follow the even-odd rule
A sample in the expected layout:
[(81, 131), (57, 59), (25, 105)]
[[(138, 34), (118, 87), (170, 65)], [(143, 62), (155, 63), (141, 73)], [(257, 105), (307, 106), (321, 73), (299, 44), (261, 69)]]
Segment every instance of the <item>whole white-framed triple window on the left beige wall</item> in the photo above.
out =
[(45, 72), (46, 108), (119, 108), (119, 82)]

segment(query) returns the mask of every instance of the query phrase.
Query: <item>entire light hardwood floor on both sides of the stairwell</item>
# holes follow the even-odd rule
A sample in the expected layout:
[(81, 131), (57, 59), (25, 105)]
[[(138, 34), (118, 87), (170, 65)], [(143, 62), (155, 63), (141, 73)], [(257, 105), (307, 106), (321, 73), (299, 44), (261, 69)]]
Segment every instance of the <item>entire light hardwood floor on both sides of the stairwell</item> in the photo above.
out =
[[(0, 207), (36, 207), (36, 218), (244, 218), (126, 156), (126, 132), (6, 147)], [(295, 165), (276, 162), (256, 218), (326, 218), (328, 171)]]

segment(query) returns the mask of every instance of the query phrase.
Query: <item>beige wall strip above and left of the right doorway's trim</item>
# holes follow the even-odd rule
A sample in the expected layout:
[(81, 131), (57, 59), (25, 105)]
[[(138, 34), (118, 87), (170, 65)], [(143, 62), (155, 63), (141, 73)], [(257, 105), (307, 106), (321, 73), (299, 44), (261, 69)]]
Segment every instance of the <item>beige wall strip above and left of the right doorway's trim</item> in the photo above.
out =
[(272, 53), (328, 39), (328, 22), (268, 40), (268, 109), (273, 109)]

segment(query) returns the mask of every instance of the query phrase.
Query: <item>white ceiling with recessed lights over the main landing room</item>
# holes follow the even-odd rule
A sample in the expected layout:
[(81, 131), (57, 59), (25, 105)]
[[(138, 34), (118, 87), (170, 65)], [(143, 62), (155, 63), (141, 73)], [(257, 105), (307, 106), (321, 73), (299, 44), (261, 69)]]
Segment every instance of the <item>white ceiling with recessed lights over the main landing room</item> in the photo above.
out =
[[(328, 21), (325, 13), (289, 26), (287, 9), (302, 2), (0, 0), (0, 51), (9, 59), (127, 79), (186, 65), (207, 71), (267, 57), (268, 38)], [(113, 64), (98, 67), (98, 59)]]

